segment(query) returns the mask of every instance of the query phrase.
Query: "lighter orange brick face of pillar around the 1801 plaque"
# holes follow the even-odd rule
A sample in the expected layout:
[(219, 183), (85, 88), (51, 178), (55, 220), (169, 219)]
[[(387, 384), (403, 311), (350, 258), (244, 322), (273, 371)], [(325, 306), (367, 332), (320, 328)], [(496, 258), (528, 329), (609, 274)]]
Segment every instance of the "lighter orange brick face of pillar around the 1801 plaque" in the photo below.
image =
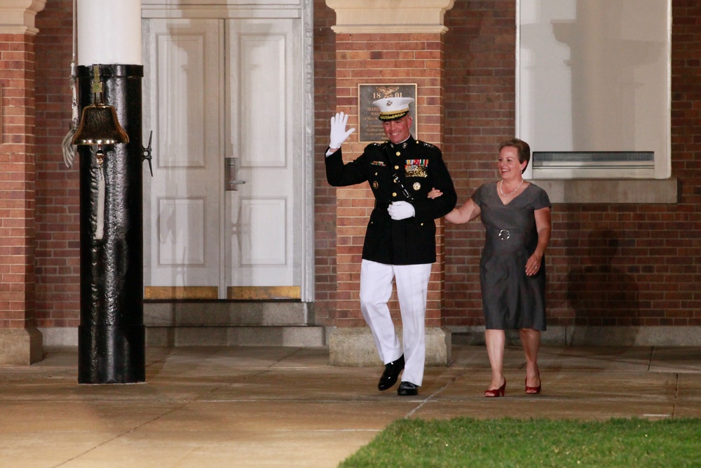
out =
[[(348, 127), (358, 128), (359, 83), (416, 83), (416, 138), (442, 145), (443, 36), (441, 34), (337, 34), (336, 105), (349, 114)], [(362, 153), (367, 142), (353, 133), (343, 145), (346, 161)], [(363, 326), (358, 306), (360, 261), (367, 220), (374, 208), (374, 196), (367, 183), (337, 189), (336, 210), (336, 325)], [(440, 224), (440, 223), (439, 223)], [(426, 326), (441, 325), (443, 261), (442, 227), (437, 265), (428, 286)], [(399, 306), (395, 295), (390, 304), (395, 316)]]

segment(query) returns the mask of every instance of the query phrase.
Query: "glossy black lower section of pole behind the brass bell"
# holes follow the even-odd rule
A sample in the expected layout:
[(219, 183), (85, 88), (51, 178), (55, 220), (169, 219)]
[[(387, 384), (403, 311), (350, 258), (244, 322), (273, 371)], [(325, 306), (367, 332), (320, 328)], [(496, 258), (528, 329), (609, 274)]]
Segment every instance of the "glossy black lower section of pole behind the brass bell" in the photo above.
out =
[[(142, 65), (99, 65), (102, 102), (114, 106), (129, 142), (104, 152), (104, 235), (95, 239), (98, 188), (95, 146), (79, 146), (81, 324), (78, 381), (146, 380), (142, 212)], [(93, 67), (76, 68), (79, 103), (93, 102)]]

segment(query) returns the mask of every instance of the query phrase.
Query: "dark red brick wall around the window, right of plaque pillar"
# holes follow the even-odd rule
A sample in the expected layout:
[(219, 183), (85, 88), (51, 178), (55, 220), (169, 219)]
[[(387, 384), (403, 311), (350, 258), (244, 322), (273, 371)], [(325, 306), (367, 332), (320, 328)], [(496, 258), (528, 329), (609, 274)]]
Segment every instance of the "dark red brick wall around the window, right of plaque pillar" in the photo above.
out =
[[(701, 325), (701, 5), (673, 1), (675, 205), (557, 204), (547, 252), (550, 325)], [(515, 119), (513, 2), (456, 2), (446, 15), (446, 159), (462, 199), (496, 180)], [(481, 325), (482, 225), (446, 228), (446, 323)]]

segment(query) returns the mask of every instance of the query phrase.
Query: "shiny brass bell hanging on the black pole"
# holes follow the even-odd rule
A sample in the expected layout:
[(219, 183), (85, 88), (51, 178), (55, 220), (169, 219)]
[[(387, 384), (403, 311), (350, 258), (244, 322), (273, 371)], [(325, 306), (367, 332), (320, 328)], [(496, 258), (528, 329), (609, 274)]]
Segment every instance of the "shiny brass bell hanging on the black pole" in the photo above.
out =
[(74, 145), (116, 145), (128, 143), (129, 135), (117, 119), (114, 107), (97, 102), (83, 109)]

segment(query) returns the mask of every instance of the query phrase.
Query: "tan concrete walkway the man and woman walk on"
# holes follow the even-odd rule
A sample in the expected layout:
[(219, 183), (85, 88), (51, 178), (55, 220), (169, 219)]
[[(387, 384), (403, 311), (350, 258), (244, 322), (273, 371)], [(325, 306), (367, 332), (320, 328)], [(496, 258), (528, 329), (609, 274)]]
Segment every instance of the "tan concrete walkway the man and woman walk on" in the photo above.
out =
[(147, 382), (79, 385), (75, 348), (0, 367), (0, 460), (20, 467), (336, 467), (402, 417), (701, 417), (700, 348), (541, 349), (543, 393), (485, 399), (486, 350), (454, 346), (416, 397), (378, 392), (382, 368), (329, 367), (328, 349), (148, 348)]

